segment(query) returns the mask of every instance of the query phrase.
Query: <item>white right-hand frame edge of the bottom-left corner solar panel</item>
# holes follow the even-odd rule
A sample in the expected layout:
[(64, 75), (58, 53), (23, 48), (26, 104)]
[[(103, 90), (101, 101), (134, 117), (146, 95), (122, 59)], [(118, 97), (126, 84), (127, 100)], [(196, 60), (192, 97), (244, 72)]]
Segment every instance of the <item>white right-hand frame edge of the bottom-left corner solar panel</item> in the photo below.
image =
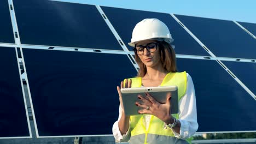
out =
[(16, 52), (16, 58), (17, 58), (17, 63), (18, 63), (18, 68), (19, 68), (19, 74), (20, 74), (20, 83), (21, 83), (21, 87), (22, 87), (22, 94), (23, 94), (23, 99), (24, 99), (24, 104), (25, 104), (25, 111), (26, 111), (26, 115), (27, 115), (27, 124), (28, 124), (28, 130), (30, 132), (30, 136), (29, 137), (25, 137), (25, 138), (32, 138), (32, 132), (31, 132), (31, 125), (30, 125), (30, 118), (28, 116), (28, 108), (27, 108), (27, 100), (26, 100), (26, 96), (25, 96), (25, 91), (24, 91), (24, 86), (23, 86), (23, 82), (22, 82), (22, 76), (21, 76), (21, 69), (20, 69), (20, 62), (19, 62), (19, 56), (18, 56), (18, 48), (15, 47), (15, 52)]

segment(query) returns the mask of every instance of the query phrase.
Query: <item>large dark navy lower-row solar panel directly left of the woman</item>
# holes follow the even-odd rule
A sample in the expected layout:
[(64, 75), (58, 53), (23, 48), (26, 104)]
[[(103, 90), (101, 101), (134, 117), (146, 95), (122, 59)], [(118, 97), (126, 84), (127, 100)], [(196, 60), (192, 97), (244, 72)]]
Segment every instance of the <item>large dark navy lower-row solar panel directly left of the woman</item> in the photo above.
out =
[(23, 49), (39, 136), (112, 134), (126, 55)]

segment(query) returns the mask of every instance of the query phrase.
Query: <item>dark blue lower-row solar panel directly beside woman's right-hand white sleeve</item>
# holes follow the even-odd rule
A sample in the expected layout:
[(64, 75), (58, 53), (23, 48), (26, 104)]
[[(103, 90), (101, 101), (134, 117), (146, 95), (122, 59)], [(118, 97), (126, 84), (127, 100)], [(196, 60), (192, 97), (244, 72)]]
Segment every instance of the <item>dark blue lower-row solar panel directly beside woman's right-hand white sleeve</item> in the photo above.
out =
[(256, 130), (256, 101), (216, 61), (177, 59), (193, 79), (198, 132)]

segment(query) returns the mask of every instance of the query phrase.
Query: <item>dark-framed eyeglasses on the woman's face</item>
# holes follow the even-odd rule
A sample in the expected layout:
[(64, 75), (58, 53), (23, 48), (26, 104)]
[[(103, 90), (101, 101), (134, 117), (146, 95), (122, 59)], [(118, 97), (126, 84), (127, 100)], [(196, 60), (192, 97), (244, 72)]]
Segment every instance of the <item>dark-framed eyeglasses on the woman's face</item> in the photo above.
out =
[(158, 43), (149, 43), (146, 46), (135, 45), (135, 47), (133, 48), (133, 51), (137, 55), (143, 55), (144, 54), (144, 48), (146, 48), (149, 52), (155, 52), (158, 49)]

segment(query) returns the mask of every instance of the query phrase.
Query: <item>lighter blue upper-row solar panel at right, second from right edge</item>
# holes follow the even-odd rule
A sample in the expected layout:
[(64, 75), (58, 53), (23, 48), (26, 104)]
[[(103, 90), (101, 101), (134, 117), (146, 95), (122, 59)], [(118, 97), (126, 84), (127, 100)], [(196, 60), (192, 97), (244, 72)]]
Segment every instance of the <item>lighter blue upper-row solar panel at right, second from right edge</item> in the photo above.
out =
[(256, 58), (256, 40), (235, 22), (175, 16), (217, 57)]

